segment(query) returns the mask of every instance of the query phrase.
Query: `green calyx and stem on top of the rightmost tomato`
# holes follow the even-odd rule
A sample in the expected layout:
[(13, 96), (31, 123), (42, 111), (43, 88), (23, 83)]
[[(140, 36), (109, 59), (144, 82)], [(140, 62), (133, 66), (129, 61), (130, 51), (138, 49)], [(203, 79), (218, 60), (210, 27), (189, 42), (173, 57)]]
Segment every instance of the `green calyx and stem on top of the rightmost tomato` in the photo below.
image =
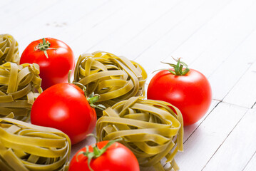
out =
[[(174, 68), (174, 71), (170, 70), (170, 69), (160, 69), (160, 70), (168, 70), (170, 73), (173, 73), (175, 76), (185, 76), (188, 71), (190, 71), (190, 69), (188, 68), (188, 65), (182, 61), (180, 61), (180, 58), (175, 59), (173, 58), (177, 63), (165, 63), (165, 62), (161, 62), (161, 63), (165, 63), (168, 64), (169, 66)], [(185, 66), (185, 69), (183, 69), (183, 66)], [(159, 70), (158, 70), (159, 71)]]

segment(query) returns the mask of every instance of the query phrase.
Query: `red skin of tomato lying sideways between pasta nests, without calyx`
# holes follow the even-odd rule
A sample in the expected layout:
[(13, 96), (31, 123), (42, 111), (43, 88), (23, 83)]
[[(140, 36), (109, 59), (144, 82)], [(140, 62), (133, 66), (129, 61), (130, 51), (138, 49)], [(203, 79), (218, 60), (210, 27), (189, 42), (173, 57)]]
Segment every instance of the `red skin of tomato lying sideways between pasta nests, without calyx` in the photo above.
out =
[(96, 111), (89, 105), (83, 90), (71, 83), (47, 88), (31, 108), (31, 123), (63, 131), (72, 145), (93, 132), (96, 120)]

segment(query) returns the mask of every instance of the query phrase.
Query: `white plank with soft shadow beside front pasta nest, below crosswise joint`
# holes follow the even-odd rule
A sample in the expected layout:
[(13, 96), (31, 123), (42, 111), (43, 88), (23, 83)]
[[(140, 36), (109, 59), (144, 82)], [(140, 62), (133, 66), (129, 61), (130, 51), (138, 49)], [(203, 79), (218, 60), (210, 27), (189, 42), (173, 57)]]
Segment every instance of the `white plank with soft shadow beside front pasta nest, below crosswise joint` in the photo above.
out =
[(184, 152), (175, 157), (180, 170), (202, 170), (246, 111), (236, 105), (217, 105), (185, 142)]

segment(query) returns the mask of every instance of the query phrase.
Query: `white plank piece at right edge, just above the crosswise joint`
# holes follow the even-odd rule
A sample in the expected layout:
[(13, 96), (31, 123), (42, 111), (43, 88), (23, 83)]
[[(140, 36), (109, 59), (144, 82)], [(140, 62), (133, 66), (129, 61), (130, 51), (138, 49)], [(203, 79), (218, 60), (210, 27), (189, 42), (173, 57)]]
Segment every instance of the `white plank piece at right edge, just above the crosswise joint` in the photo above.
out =
[(223, 102), (252, 108), (256, 102), (256, 62), (223, 99)]

